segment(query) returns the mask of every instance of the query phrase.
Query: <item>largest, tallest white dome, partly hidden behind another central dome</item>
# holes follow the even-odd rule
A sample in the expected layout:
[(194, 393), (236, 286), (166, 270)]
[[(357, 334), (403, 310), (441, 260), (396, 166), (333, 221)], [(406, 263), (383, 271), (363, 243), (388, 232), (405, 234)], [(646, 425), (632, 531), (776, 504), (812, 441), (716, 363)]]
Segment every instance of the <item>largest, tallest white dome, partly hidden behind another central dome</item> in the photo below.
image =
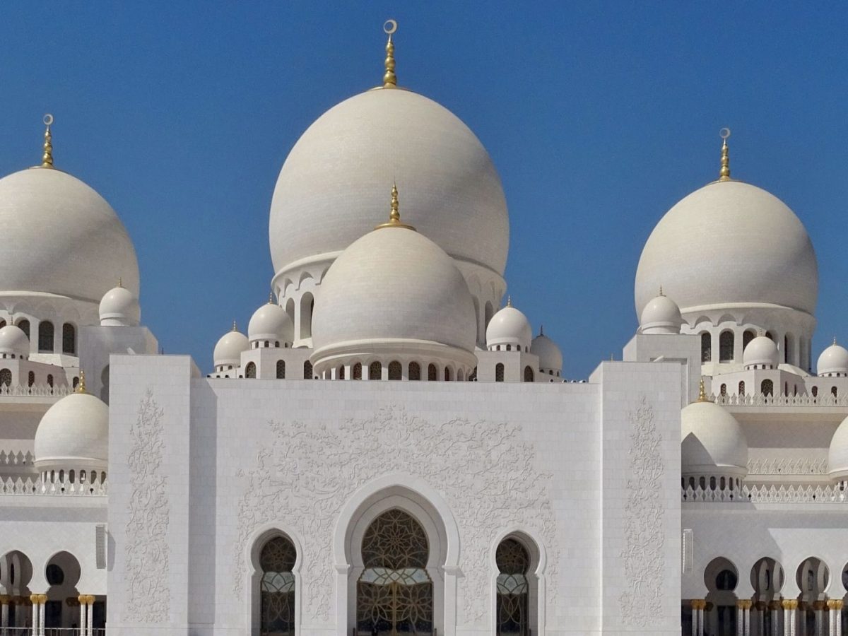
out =
[(347, 248), (382, 220), (392, 181), (404, 189), (404, 222), (503, 275), (509, 220), (486, 149), (448, 109), (399, 88), (339, 103), (292, 148), (271, 201), (274, 270)]

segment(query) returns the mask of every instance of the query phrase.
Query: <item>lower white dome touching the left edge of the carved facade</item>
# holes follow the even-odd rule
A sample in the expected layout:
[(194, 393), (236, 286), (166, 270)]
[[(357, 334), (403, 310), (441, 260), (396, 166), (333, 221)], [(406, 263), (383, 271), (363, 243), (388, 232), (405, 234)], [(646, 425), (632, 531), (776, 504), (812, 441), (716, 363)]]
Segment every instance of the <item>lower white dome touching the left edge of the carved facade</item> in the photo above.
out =
[(94, 468), (109, 459), (109, 407), (89, 393), (71, 393), (42, 416), (35, 438), (39, 471)]

